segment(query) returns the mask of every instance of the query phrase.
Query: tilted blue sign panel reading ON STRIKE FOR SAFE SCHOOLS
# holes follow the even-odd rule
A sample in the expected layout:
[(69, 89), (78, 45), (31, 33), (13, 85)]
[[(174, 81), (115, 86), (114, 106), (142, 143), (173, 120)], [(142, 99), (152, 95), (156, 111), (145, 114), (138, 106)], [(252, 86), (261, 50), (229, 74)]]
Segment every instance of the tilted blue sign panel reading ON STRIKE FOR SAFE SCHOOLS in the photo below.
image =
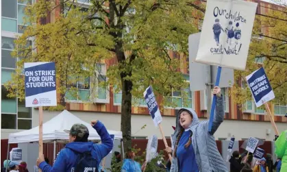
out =
[(263, 68), (260, 68), (246, 77), (248, 86), (257, 107), (275, 98), (269, 80)]

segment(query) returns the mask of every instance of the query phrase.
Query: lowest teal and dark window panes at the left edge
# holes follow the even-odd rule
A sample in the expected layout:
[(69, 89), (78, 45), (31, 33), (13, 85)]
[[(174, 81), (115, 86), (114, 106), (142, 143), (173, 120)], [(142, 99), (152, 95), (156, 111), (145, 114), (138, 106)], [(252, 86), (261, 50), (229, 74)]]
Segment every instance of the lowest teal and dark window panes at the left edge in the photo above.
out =
[(9, 98), (8, 90), (1, 86), (1, 129), (29, 130), (32, 128), (32, 109), (25, 101)]

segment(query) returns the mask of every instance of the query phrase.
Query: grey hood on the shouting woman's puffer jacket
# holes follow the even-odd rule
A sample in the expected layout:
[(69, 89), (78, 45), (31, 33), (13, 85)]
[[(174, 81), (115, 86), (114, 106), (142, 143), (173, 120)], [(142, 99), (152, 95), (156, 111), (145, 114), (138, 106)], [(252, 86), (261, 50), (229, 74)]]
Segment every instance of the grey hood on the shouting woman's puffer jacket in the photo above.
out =
[(186, 112), (188, 112), (189, 114), (192, 115), (193, 119), (192, 119), (192, 123), (190, 125), (191, 129), (192, 129), (192, 127), (195, 127), (197, 124), (199, 124), (199, 118), (198, 118), (197, 113), (195, 112), (195, 110), (192, 110), (190, 108), (181, 108), (177, 112), (177, 116), (176, 116), (176, 119), (175, 119), (175, 123), (176, 123), (175, 132), (174, 132), (175, 137), (177, 137), (177, 134), (182, 129), (182, 126), (179, 123), (179, 114), (181, 114), (183, 111), (186, 111)]

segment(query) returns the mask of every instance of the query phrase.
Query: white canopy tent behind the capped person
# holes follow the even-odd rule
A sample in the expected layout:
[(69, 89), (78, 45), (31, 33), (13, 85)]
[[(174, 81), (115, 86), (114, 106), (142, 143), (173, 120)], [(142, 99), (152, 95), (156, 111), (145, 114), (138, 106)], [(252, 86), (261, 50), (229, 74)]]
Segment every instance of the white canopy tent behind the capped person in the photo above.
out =
[[(101, 140), (97, 131), (90, 125), (90, 123), (86, 123), (82, 121), (77, 116), (73, 115), (68, 110), (63, 110), (60, 114), (53, 117), (53, 119), (43, 123), (43, 143), (54, 143), (54, 152), (53, 158), (55, 159), (55, 143), (56, 142), (67, 142), (68, 134), (64, 132), (64, 130), (71, 130), (71, 127), (75, 123), (82, 123), (88, 127), (89, 137), (88, 140)], [(108, 130), (110, 135), (114, 135), (114, 139), (123, 138), (122, 132), (117, 132), (113, 130)], [(23, 132), (16, 132), (13, 134), (9, 134), (8, 140), (8, 150), (11, 143), (31, 143), (39, 141), (39, 126), (34, 127), (30, 130), (25, 130)], [(8, 157), (7, 157), (8, 158)]]

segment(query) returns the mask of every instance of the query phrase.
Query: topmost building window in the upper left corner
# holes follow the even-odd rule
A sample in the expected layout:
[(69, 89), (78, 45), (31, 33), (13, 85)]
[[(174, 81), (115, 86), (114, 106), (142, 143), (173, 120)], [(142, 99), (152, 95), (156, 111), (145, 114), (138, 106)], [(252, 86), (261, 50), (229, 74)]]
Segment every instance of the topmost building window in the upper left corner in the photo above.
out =
[(1, 31), (23, 33), (29, 23), (24, 22), (25, 8), (32, 1), (2, 0)]

